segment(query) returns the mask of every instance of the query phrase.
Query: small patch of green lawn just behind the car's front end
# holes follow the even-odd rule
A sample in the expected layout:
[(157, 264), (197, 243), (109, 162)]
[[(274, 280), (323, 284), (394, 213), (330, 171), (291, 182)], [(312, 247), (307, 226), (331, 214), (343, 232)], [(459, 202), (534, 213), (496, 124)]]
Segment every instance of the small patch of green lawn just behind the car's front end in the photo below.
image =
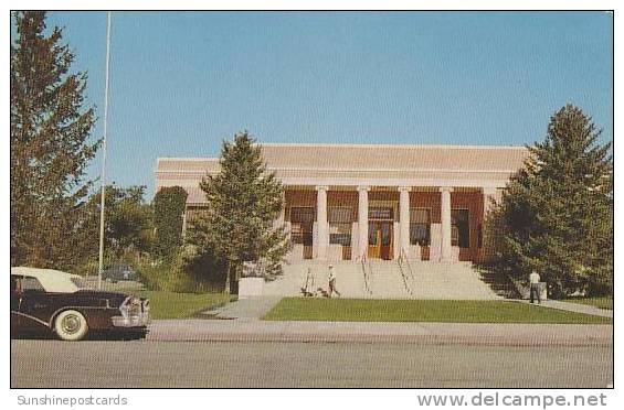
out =
[(149, 298), (151, 319), (190, 317), (236, 298), (223, 293), (176, 293), (166, 291), (142, 291), (135, 294), (140, 298)]

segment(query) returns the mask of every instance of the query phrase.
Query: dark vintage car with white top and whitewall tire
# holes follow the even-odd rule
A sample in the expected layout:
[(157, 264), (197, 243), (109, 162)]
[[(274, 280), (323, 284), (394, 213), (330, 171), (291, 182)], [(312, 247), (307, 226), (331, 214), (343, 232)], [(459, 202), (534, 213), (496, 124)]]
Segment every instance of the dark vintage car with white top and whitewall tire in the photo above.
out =
[(146, 335), (149, 300), (87, 289), (77, 274), (11, 268), (11, 334), (44, 330), (64, 341), (91, 331)]

